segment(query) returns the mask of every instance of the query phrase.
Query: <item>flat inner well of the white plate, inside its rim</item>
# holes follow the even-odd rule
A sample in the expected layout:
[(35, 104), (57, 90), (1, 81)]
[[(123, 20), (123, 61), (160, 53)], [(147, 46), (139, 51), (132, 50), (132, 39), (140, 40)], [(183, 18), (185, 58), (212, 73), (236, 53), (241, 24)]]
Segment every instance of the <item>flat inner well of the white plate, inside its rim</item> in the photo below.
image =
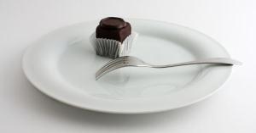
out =
[[(166, 38), (140, 34), (131, 55), (151, 64), (195, 59), (186, 47)], [(58, 67), (73, 88), (100, 98), (161, 97), (185, 89), (201, 71), (197, 65), (169, 69), (124, 68), (95, 80), (96, 70), (109, 59), (96, 56), (90, 42), (77, 42), (61, 54)]]

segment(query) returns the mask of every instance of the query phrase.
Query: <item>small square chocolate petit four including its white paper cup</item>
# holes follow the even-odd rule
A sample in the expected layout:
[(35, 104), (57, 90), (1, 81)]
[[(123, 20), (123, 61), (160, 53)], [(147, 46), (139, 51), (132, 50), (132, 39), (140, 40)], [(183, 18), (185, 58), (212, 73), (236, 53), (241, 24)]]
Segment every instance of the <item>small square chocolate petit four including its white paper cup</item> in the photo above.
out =
[(108, 17), (97, 25), (96, 32), (90, 36), (90, 42), (97, 55), (119, 58), (130, 53), (136, 38), (137, 33), (131, 31), (130, 23), (121, 18)]

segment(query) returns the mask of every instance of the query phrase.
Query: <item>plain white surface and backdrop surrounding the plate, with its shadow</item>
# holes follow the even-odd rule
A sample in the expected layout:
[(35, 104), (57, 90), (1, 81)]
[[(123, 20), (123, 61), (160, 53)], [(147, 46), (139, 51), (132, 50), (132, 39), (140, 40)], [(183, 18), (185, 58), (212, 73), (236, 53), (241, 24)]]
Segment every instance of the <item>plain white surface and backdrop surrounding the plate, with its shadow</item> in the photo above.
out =
[[(107, 16), (157, 19), (212, 36), (243, 62), (223, 88), (160, 114), (100, 114), (37, 91), (20, 67), (29, 44), (55, 28)], [(0, 0), (0, 132), (256, 132), (256, 1)]]

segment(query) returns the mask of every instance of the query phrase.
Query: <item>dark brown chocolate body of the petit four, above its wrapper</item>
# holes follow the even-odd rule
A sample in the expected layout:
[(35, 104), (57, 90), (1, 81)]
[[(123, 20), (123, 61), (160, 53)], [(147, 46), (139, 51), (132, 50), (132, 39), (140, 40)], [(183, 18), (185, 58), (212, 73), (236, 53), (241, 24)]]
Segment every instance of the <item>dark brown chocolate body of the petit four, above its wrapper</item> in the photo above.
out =
[(96, 38), (107, 38), (124, 42), (125, 38), (129, 35), (131, 35), (131, 25), (121, 18), (108, 17), (102, 19), (96, 27)]

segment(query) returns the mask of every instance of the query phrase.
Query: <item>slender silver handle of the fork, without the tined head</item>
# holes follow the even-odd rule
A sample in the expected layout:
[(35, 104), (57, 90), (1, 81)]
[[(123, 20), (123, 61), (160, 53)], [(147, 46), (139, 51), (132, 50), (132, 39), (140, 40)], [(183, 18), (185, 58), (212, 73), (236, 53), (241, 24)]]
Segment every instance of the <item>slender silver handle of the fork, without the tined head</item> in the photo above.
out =
[(176, 66), (183, 66), (183, 65), (190, 65), (190, 64), (223, 64), (223, 65), (241, 65), (241, 62), (231, 59), (231, 58), (203, 58), (197, 59), (195, 61), (189, 61), (179, 64), (166, 64), (166, 65), (153, 65), (148, 64), (147, 67), (151, 68), (169, 68), (169, 67), (176, 67)]

